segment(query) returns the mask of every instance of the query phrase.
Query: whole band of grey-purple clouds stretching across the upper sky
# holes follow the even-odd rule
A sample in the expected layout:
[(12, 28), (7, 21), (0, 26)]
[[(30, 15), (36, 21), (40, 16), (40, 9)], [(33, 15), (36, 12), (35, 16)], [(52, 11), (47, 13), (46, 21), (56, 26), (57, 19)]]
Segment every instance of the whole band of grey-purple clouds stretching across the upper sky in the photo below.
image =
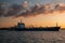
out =
[(36, 3), (32, 6), (29, 6), (29, 3), (27, 1), (24, 1), (22, 4), (11, 4), (8, 6), (8, 4), (0, 3), (0, 17), (28, 17), (28, 16), (36, 16), (39, 14), (53, 14), (54, 12), (64, 12), (65, 11), (65, 4), (58, 3), (58, 4), (40, 4)]

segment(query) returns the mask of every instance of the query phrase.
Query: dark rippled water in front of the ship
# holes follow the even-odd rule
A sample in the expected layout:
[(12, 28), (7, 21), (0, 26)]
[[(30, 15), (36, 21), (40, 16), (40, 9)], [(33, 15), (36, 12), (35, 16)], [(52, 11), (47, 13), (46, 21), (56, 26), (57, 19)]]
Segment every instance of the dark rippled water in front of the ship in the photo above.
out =
[(0, 30), (0, 43), (65, 43), (65, 30), (60, 31)]

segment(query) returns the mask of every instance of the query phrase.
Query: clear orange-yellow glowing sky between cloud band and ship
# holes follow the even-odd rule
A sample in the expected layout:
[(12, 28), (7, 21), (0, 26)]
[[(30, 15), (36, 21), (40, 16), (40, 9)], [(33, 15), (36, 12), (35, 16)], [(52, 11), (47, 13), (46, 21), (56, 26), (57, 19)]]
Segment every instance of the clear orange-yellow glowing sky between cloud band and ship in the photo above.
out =
[[(55, 26), (57, 23), (58, 26), (65, 28), (65, 13), (61, 13), (61, 14), (54, 13), (48, 15), (40, 14), (35, 17), (18, 17), (17, 19), (11, 19), (11, 20), (8, 19), (6, 22), (4, 22), (5, 26), (6, 27), (15, 26), (18, 23), (18, 19), (22, 19), (27, 27), (30, 25), (35, 27), (46, 27), (46, 26), (51, 27), (51, 26)], [(2, 23), (1, 26), (4, 26), (4, 23)]]

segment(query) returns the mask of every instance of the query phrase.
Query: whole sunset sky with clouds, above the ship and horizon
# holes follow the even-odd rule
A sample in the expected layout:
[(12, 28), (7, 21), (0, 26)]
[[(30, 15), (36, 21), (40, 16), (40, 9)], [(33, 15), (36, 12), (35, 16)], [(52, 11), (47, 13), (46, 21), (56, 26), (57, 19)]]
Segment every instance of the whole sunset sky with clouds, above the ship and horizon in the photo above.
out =
[(0, 0), (0, 28), (13, 27), (22, 19), (26, 27), (65, 28), (65, 0)]

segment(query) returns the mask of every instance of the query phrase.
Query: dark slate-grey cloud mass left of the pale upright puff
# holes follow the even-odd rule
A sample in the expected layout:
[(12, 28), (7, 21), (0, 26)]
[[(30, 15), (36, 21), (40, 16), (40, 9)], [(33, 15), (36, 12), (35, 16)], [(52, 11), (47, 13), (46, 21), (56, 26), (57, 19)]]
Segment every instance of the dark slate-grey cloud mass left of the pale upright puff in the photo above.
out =
[(22, 5), (18, 5), (18, 4), (12, 4), (10, 8), (9, 8), (9, 12), (6, 13), (6, 15), (4, 16), (15, 16), (17, 15), (17, 13), (23, 9)]

